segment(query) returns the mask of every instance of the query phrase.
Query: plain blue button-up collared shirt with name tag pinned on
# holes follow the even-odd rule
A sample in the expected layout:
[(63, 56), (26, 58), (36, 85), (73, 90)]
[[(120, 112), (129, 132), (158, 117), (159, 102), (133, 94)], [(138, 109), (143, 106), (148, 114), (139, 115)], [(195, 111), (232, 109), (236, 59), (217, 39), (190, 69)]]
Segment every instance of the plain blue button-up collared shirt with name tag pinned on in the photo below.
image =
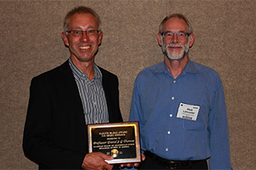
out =
[[(180, 103), (200, 106), (196, 121), (177, 118)], [(203, 160), (231, 169), (224, 88), (216, 71), (189, 59), (174, 79), (164, 62), (135, 81), (130, 121), (140, 122), (142, 150), (169, 160)]]

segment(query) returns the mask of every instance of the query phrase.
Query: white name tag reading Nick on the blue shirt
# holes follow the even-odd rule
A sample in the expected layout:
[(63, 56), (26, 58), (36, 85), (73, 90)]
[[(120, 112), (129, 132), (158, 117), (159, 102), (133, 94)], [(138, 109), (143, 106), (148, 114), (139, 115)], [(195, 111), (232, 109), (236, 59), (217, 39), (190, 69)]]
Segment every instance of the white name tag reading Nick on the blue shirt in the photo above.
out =
[(196, 121), (200, 106), (180, 103), (177, 110), (177, 118)]

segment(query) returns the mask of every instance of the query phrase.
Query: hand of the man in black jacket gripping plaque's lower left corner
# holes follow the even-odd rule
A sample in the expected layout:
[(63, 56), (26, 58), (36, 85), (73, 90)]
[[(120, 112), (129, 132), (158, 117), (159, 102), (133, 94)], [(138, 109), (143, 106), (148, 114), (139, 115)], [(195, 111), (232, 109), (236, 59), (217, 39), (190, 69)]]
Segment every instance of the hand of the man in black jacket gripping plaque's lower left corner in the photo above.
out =
[(84, 157), (82, 167), (86, 170), (113, 169), (113, 165), (109, 165), (108, 162), (105, 160), (113, 160), (113, 156), (108, 156), (106, 154), (103, 154), (102, 152), (91, 152), (89, 154), (86, 154), (86, 156)]

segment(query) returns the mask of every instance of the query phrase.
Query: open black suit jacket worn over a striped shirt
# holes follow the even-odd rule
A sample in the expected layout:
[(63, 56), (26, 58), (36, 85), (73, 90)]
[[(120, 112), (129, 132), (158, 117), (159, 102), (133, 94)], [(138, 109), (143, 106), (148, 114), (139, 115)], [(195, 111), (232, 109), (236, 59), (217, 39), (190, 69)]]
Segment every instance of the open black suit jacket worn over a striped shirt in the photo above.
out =
[[(109, 122), (122, 122), (119, 82), (102, 71)], [(88, 153), (87, 129), (79, 89), (68, 60), (32, 79), (23, 136), (25, 155), (39, 169), (79, 169)]]

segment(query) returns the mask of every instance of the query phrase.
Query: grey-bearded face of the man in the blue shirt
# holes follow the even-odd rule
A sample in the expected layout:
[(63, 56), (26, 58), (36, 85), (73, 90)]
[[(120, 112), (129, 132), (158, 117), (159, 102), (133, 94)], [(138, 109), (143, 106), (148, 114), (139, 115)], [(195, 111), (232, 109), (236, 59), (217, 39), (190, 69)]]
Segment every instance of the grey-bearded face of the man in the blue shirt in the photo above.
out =
[[(184, 20), (171, 18), (166, 20), (162, 31), (172, 32), (188, 32), (189, 26)], [(162, 51), (168, 59), (183, 59), (189, 52), (189, 47), (193, 45), (194, 34), (189, 37), (179, 37), (176, 33), (172, 37), (162, 37), (159, 33), (158, 41), (162, 47)]]

